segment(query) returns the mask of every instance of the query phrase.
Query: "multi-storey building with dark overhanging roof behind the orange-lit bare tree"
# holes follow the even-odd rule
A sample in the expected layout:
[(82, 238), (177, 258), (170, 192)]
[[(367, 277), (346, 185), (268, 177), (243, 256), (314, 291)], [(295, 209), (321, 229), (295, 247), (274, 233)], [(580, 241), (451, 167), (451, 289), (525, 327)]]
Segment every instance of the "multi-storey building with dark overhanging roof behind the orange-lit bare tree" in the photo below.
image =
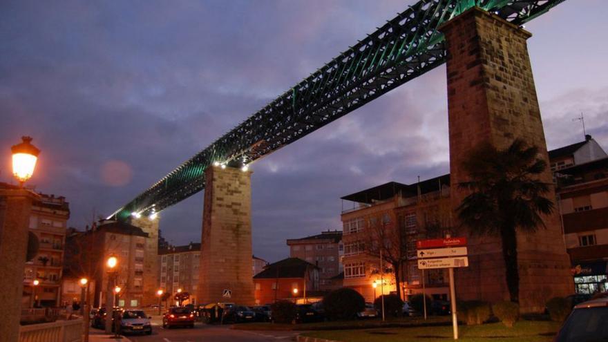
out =
[(343, 286), (366, 301), (397, 288), (407, 298), (422, 292), (423, 285), (429, 296), (448, 298), (446, 271), (419, 271), (415, 246), (419, 239), (450, 231), (449, 185), (449, 175), (442, 175), (417, 184), (388, 182), (341, 198), (352, 203), (341, 214)]

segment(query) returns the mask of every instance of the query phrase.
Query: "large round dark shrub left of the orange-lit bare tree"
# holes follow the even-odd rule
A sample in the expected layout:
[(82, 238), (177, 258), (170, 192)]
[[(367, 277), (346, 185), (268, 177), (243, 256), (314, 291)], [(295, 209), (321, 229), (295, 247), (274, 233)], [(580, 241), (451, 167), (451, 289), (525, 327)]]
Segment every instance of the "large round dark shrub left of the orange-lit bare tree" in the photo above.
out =
[(323, 307), (327, 319), (354, 319), (357, 312), (365, 310), (365, 299), (354, 289), (342, 287), (323, 298)]

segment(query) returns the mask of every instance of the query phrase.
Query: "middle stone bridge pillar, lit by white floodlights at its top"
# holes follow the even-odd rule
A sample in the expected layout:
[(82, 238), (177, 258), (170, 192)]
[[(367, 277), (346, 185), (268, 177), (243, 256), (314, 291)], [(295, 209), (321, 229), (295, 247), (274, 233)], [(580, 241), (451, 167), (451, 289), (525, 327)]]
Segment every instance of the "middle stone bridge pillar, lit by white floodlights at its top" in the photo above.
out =
[(198, 302), (253, 305), (251, 171), (209, 167), (205, 179)]

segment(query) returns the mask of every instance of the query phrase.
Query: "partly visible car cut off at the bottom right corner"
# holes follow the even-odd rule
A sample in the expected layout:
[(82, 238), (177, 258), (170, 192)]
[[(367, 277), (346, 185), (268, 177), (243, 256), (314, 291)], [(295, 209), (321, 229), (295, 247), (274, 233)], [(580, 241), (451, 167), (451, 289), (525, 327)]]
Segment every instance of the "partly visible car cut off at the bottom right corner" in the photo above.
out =
[(553, 339), (554, 342), (608, 341), (608, 298), (594, 299), (574, 307)]

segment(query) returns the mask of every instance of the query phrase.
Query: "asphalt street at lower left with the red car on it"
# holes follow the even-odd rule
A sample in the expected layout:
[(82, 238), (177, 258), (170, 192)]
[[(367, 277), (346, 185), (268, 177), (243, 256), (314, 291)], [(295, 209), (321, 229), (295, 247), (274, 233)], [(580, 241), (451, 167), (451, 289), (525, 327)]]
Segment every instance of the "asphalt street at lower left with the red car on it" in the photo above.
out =
[(164, 329), (153, 325), (151, 335), (129, 335), (133, 342), (281, 342), (295, 341), (297, 332), (282, 331), (245, 331), (234, 330), (230, 325), (207, 325), (196, 323), (191, 329), (187, 327), (173, 327)]

